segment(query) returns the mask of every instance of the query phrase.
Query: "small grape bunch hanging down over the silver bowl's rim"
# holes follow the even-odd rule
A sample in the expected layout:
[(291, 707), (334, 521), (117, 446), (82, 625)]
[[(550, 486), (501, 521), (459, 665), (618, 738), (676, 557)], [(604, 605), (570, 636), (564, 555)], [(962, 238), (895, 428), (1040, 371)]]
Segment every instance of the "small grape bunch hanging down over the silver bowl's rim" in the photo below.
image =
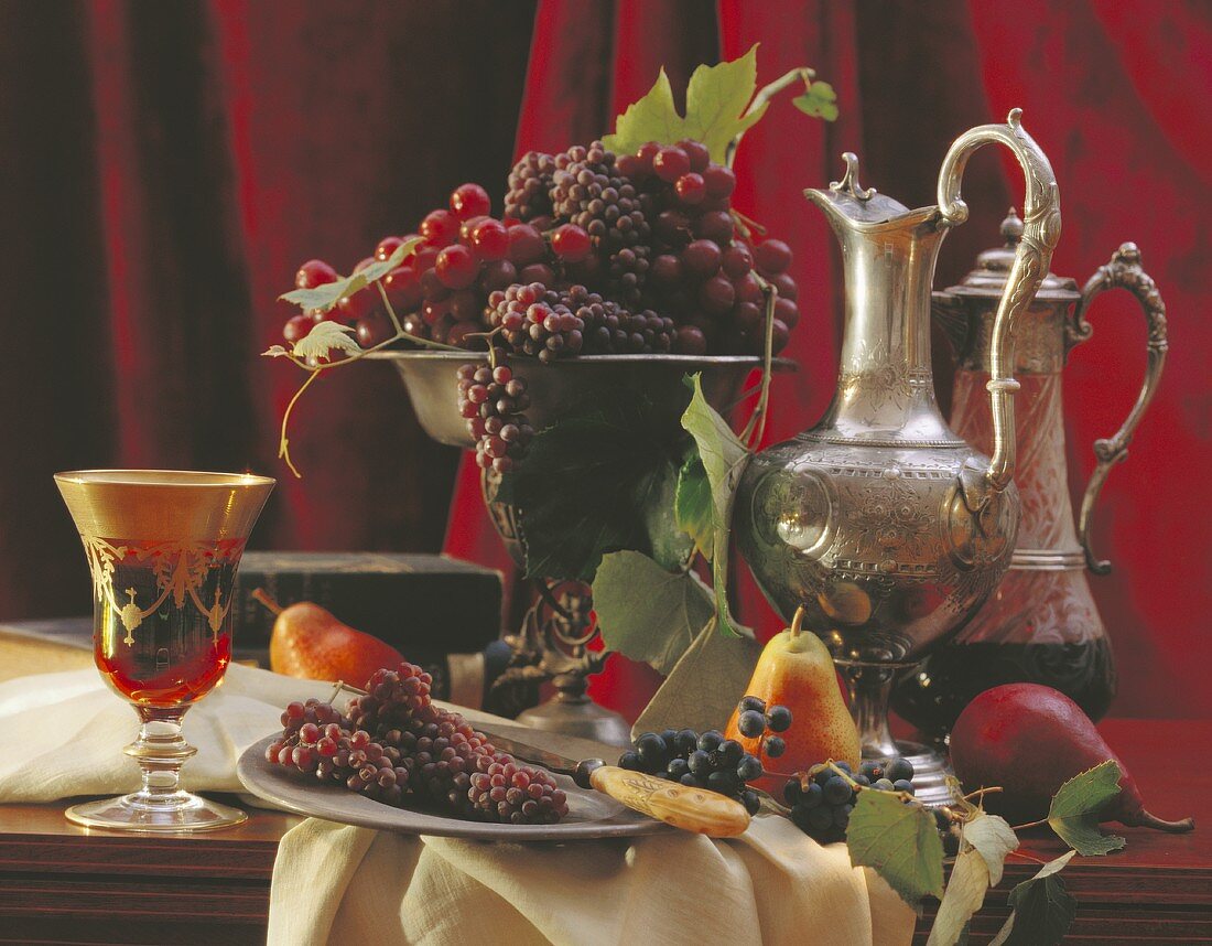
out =
[(526, 418), (526, 381), (508, 365), (467, 364), (458, 369), (458, 408), (475, 439), (475, 462), (508, 473), (534, 437)]

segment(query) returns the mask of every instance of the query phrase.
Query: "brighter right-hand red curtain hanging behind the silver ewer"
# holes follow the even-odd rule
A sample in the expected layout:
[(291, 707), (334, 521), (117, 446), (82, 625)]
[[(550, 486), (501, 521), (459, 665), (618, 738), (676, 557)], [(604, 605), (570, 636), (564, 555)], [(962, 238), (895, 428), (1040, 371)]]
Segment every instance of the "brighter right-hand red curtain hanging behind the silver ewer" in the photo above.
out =
[[(761, 42), (760, 80), (812, 65), (839, 93), (841, 118), (806, 121), (776, 103), (738, 156), (734, 203), (790, 243), (805, 318), (793, 332), (796, 377), (776, 382), (767, 441), (814, 422), (836, 377), (840, 279), (823, 217), (799, 196), (840, 176), (839, 155), (861, 155), (863, 183), (910, 206), (934, 200), (938, 167), (960, 132), (1024, 109), (1060, 184), (1064, 233), (1053, 269), (1085, 280), (1124, 240), (1134, 240), (1170, 306), (1174, 338), (1161, 393), (1115, 471), (1098, 511), (1098, 548), (1116, 564), (1092, 577), (1121, 667), (1113, 712), (1206, 714), (1202, 678), (1212, 568), (1197, 549), (1212, 525), (1207, 506), (1178, 485), (1212, 461), (1207, 323), (1199, 312), (1212, 262), (1212, 15), (1197, 4), (1057, 5), (1028, 0), (1007, 17), (995, 4), (624, 2), (539, 4), (516, 152), (556, 150), (612, 127), (664, 63), (675, 89), (688, 70)], [(1134, 11), (1134, 12), (1133, 12)], [(719, 46), (714, 47), (713, 42)], [(588, 64), (588, 68), (587, 68)], [(976, 253), (997, 243), (997, 223), (1019, 200), (1017, 166), (978, 154), (965, 178), (970, 222), (948, 240), (937, 284), (956, 281)], [(1103, 297), (1096, 337), (1065, 372), (1069, 463), (1081, 489), (1091, 443), (1126, 416), (1144, 365), (1144, 326), (1126, 294)], [(936, 352), (942, 400), (945, 348)], [(1185, 475), (1184, 475), (1185, 472)], [(1162, 484), (1171, 484), (1164, 488)], [(1197, 488), (1196, 488), (1197, 491)], [(476, 473), (464, 463), (446, 547), (508, 568), (482, 514)], [(762, 636), (777, 622), (748, 576), (741, 612)], [(1196, 656), (1197, 655), (1197, 656)], [(612, 657), (591, 693), (636, 713), (658, 683), (647, 668)]]

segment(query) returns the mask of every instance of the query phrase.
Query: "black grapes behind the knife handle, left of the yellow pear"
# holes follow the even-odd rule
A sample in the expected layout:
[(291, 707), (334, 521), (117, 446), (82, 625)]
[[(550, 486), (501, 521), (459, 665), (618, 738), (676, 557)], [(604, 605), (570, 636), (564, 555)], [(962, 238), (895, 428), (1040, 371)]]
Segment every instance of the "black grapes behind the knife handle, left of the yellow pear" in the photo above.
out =
[(749, 787), (762, 775), (761, 760), (716, 729), (703, 734), (693, 729), (645, 733), (619, 756), (618, 765), (736, 798), (750, 815), (761, 808), (761, 797)]

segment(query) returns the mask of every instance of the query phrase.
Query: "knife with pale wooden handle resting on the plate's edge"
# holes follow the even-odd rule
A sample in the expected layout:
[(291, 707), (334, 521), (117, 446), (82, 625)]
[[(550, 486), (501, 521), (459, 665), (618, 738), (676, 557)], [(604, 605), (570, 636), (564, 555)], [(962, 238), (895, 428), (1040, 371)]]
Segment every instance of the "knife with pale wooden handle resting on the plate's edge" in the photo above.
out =
[(532, 746), (490, 729), (482, 731), (499, 752), (542, 765), (549, 771), (571, 775), (582, 788), (593, 788), (608, 794), (648, 817), (664, 821), (682, 831), (705, 834), (709, 838), (732, 838), (749, 827), (749, 813), (734, 798), (658, 779), (642, 771), (607, 765), (601, 759), (571, 759), (567, 756)]

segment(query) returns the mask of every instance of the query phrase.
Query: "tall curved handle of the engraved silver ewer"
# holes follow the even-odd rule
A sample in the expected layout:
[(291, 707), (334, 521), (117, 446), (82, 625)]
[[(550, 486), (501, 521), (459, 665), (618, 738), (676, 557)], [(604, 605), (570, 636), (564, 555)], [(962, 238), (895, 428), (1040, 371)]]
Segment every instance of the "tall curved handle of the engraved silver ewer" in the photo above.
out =
[[(985, 144), (1005, 144), (1018, 158), (1027, 177), (1023, 203), (1023, 236), (1014, 252), (1014, 263), (1006, 289), (997, 303), (985, 386), (993, 408), (993, 457), (983, 484), (970, 483), (970, 491), (997, 494), (1014, 478), (1014, 323), (1035, 298), (1052, 262), (1052, 250), (1060, 238), (1060, 195), (1047, 155), (1040, 150), (1022, 125), (1022, 109), (1013, 109), (1005, 125), (981, 125), (965, 132), (951, 144), (938, 175), (938, 211), (943, 226), (957, 226), (968, 218), (968, 206), (960, 196), (964, 169), (973, 152)], [(970, 496), (977, 506), (979, 496)]]

